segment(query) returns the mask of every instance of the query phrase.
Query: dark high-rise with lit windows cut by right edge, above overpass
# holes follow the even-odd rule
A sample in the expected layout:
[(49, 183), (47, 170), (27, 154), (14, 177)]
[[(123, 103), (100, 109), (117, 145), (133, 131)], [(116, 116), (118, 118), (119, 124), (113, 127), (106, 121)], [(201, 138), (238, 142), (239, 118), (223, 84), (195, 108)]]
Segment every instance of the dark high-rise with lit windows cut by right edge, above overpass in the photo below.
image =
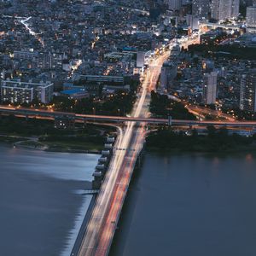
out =
[(240, 108), (241, 110), (256, 112), (256, 70), (242, 76)]

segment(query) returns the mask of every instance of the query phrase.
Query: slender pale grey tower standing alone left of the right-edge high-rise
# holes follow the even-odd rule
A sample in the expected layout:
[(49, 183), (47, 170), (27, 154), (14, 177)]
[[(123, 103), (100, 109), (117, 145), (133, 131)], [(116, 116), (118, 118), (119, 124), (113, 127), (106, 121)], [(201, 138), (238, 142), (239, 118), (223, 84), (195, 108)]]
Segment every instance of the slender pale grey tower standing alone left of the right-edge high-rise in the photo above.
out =
[(203, 102), (215, 104), (217, 96), (217, 72), (205, 73), (203, 77)]

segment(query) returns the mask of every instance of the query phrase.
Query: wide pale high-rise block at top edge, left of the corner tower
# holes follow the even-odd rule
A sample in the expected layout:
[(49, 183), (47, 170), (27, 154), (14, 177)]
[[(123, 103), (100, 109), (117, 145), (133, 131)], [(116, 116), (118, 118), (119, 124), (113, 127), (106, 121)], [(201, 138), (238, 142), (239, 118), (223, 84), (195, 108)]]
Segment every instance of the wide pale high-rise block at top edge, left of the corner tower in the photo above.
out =
[(240, 0), (212, 0), (211, 16), (215, 20), (236, 18), (239, 15)]

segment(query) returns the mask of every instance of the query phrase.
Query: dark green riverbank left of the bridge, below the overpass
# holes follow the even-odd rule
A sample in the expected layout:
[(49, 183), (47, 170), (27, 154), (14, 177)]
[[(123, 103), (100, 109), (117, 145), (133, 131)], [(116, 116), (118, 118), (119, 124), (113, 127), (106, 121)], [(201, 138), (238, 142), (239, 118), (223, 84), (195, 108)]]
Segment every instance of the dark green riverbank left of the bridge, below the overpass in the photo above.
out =
[(56, 129), (53, 120), (0, 119), (0, 143), (33, 150), (99, 154), (105, 138), (114, 132), (107, 125), (77, 124), (73, 129)]

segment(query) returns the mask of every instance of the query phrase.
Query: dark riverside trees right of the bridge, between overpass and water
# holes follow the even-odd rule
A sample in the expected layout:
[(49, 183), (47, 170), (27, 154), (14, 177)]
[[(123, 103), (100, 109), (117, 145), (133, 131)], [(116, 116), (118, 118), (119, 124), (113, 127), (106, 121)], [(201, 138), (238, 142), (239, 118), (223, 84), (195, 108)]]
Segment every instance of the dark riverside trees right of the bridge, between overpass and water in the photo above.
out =
[(225, 128), (216, 130), (213, 126), (207, 127), (207, 136), (198, 135), (196, 130), (191, 136), (182, 131), (176, 133), (170, 128), (162, 127), (147, 137), (147, 148), (170, 151), (190, 152), (224, 152), (236, 151), (253, 147), (255, 137), (241, 137), (229, 135)]

